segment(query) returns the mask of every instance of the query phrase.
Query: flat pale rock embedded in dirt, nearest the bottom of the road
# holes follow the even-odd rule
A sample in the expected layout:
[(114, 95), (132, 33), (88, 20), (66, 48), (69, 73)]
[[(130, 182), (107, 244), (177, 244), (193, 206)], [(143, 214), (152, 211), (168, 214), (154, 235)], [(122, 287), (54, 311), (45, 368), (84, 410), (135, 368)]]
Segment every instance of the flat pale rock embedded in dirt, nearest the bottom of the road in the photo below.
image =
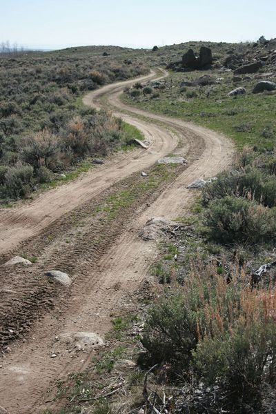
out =
[(75, 351), (89, 351), (104, 345), (103, 339), (93, 332), (68, 332), (60, 335), (61, 342), (71, 344)]

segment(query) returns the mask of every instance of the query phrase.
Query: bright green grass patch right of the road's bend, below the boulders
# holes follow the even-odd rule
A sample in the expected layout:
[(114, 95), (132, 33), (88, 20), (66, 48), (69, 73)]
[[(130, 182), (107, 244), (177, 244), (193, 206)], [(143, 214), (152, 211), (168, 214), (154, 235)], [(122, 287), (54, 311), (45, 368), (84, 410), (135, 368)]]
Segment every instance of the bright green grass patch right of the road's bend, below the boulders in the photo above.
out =
[[(207, 71), (206, 74), (213, 78), (221, 76), (219, 72), (213, 71)], [(253, 95), (250, 91), (256, 81), (248, 81), (246, 95), (229, 98), (227, 93), (235, 88), (233, 75), (224, 73), (221, 85), (188, 87), (188, 99), (181, 97), (181, 81), (200, 76), (202, 72), (198, 71), (185, 75), (170, 73), (166, 88), (159, 90), (159, 99), (150, 99), (145, 95), (133, 98), (126, 93), (122, 99), (144, 110), (193, 121), (222, 132), (235, 141), (239, 150), (245, 145), (255, 146), (260, 151), (271, 150), (275, 145), (275, 94)], [(190, 91), (193, 90), (197, 91), (197, 95), (193, 94), (191, 99)]]

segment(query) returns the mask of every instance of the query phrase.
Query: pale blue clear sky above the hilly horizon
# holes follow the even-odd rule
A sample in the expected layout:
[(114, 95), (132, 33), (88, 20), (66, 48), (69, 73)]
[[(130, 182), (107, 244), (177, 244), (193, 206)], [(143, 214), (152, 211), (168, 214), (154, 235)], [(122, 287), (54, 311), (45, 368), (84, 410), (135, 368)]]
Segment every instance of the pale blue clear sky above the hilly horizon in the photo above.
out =
[(0, 0), (0, 43), (29, 48), (276, 37), (276, 0)]

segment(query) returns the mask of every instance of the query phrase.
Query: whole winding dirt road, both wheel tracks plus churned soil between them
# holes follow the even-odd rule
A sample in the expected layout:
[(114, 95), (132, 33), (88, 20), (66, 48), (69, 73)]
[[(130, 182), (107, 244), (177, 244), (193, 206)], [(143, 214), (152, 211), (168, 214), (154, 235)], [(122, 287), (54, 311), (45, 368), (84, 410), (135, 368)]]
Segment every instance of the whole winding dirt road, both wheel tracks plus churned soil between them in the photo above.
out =
[[(156, 77), (152, 71), (139, 80)], [(60, 338), (83, 332), (104, 337), (112, 317), (131, 305), (157, 256), (155, 242), (139, 238), (146, 221), (185, 215), (197, 195), (187, 185), (231, 163), (233, 145), (224, 136), (121, 103), (121, 92), (136, 81), (108, 85), (84, 102), (112, 108), (137, 126), (150, 141), (147, 150), (110, 157), (70, 184), (0, 211), (0, 264), (21, 252), (38, 259), (28, 268), (0, 266), (0, 406), (10, 414), (55, 408), (55, 380), (82, 371), (97, 352), (72, 351)], [(145, 193), (116, 220), (101, 221), (95, 206), (143, 179), (141, 171), (150, 175), (152, 165), (172, 152), (188, 160), (177, 166), (175, 179)], [(44, 275), (54, 269), (70, 275), (70, 287)]]

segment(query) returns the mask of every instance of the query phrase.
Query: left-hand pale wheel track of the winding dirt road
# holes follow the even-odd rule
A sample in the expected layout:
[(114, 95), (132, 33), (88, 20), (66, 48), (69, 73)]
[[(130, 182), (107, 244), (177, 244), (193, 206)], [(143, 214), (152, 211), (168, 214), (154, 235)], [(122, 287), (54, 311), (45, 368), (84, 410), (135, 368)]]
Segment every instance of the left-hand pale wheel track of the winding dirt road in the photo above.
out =
[[(155, 77), (151, 72), (141, 80)], [(90, 101), (111, 90), (123, 90), (134, 81), (119, 82), (96, 90), (89, 95)], [(99, 94), (100, 92), (100, 94)], [(84, 99), (86, 101), (86, 99)], [(148, 168), (157, 159), (171, 152), (177, 146), (177, 137), (154, 124), (130, 119), (128, 121), (143, 132), (150, 142), (148, 150), (139, 149), (127, 154), (111, 157), (103, 166), (90, 170), (80, 179), (42, 193), (34, 201), (21, 202), (20, 206), (0, 209), (0, 257), (8, 255), (23, 240), (37, 235), (39, 231), (68, 211), (95, 197), (105, 188), (115, 184), (132, 172)]]

